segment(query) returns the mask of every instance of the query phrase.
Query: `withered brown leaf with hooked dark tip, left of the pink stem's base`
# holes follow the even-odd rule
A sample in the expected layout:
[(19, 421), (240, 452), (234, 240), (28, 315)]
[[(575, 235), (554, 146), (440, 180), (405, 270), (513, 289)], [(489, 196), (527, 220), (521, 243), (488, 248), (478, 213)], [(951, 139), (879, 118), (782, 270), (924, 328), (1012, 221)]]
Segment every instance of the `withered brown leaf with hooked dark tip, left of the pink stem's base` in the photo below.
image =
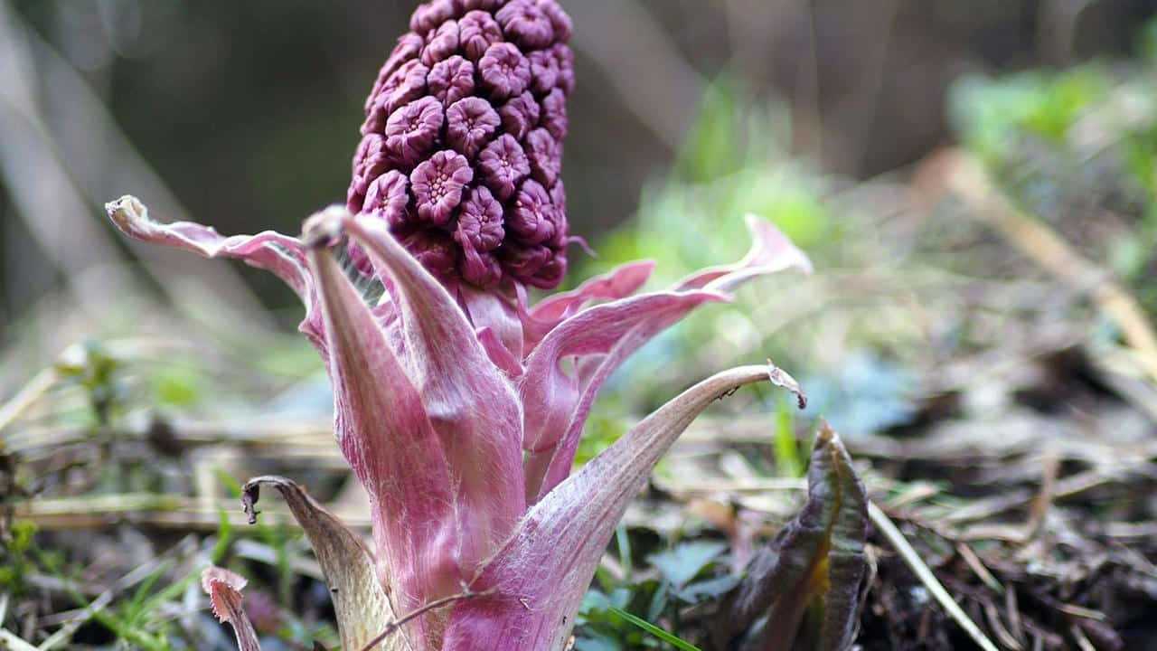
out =
[[(250, 514), (250, 521), (256, 518), (255, 505), (264, 484), (273, 485), (281, 492), (317, 555), (333, 599), (341, 648), (364, 648), (393, 620), (390, 601), (374, 571), (373, 555), (358, 534), (342, 525), (341, 520), (326, 511), (296, 482), (285, 477), (255, 477), (245, 484), (243, 504), (245, 512)], [(378, 649), (410, 651), (400, 635), (389, 637)]]

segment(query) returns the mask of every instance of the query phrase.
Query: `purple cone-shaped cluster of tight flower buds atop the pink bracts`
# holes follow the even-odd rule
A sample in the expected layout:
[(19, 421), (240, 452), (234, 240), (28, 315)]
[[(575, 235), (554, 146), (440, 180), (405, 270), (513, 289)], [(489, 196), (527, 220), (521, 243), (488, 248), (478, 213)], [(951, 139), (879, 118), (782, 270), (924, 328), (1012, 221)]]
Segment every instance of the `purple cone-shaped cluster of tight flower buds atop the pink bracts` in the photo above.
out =
[[(347, 207), (442, 280), (557, 286), (570, 19), (555, 0), (434, 0), (410, 28), (366, 101)], [(361, 247), (351, 257), (371, 272)]]

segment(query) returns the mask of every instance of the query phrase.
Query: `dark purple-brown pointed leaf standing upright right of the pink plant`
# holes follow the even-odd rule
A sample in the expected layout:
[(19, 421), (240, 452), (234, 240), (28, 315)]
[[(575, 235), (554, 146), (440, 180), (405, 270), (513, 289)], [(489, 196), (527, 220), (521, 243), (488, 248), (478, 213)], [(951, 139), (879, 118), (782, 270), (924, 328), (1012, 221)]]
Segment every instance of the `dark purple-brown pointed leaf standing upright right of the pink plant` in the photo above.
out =
[(868, 498), (839, 436), (820, 429), (808, 502), (724, 598), (720, 651), (843, 651), (858, 623)]

